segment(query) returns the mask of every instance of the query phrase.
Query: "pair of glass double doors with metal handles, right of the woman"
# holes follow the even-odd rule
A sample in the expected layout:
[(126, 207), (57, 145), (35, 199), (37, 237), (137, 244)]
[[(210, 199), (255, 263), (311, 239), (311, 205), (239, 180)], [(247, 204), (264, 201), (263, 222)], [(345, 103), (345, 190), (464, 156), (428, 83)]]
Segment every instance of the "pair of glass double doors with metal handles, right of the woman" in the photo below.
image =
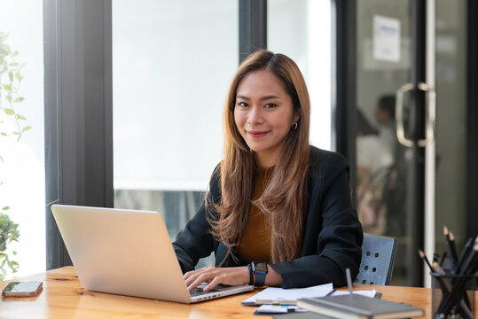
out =
[(458, 253), (473, 235), (466, 5), (357, 2), (357, 211), (365, 232), (398, 239), (392, 284), (429, 284), (417, 251), (443, 253), (443, 226)]

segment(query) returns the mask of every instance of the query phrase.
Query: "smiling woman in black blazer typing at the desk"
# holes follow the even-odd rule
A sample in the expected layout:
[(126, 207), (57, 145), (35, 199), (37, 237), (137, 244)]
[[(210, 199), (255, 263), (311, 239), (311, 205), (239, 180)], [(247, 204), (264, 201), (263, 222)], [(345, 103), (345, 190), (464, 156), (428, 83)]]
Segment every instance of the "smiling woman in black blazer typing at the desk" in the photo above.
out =
[[(346, 284), (363, 230), (346, 159), (309, 145), (310, 101), (294, 61), (256, 51), (235, 74), (224, 109), (225, 154), (205, 204), (173, 243), (191, 291), (216, 284)], [(193, 270), (215, 252), (215, 267)]]

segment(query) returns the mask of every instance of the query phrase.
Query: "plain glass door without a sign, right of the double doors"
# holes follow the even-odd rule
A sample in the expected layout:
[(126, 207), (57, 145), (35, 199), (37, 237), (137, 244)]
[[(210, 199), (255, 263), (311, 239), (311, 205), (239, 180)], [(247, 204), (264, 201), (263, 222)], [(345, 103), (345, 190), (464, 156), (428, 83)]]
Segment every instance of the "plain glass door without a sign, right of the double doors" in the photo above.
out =
[[(467, 171), (466, 161), (469, 160), (469, 152), (473, 152), (473, 148), (476, 149), (476, 140), (473, 142), (473, 137), (467, 134), (466, 127), (466, 118), (471, 111), (468, 107), (476, 107), (476, 105), (467, 106), (469, 102), (466, 101), (467, 73), (470, 72), (466, 57), (468, 45), (466, 39), (470, 38), (469, 35), (467, 37), (468, 32), (476, 32), (475, 29), (467, 30), (466, 3), (466, 1), (436, 1), (435, 88), (437, 99), (433, 235), (435, 235), (437, 253), (446, 251), (446, 241), (443, 237), (444, 225), (453, 232), (458, 253), (468, 237), (476, 237), (478, 227), (473, 222), (473, 218), (468, 218), (466, 215), (466, 210), (469, 216), (477, 214), (473, 207), (466, 205), (467, 179), (474, 179), (474, 176)], [(469, 57), (471, 58), (476, 57)], [(472, 141), (468, 141), (468, 138), (472, 138)], [(468, 230), (467, 223), (472, 224)]]

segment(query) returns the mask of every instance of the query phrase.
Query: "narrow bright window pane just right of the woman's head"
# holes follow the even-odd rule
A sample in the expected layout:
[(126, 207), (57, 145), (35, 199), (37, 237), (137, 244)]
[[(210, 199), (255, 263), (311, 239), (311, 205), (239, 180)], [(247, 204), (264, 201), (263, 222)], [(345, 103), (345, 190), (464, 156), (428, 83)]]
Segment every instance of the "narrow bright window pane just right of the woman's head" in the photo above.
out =
[(331, 4), (270, 0), (268, 49), (299, 66), (310, 94), (310, 144), (331, 149)]

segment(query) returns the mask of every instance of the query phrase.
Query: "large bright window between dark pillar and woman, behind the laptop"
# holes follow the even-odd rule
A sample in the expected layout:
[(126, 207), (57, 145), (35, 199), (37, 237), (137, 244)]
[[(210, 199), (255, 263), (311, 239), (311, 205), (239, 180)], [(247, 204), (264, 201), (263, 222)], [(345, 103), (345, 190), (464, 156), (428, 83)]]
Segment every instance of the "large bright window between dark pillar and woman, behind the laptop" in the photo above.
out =
[(114, 206), (159, 211), (171, 238), (222, 157), (238, 20), (237, 1), (113, 2)]

